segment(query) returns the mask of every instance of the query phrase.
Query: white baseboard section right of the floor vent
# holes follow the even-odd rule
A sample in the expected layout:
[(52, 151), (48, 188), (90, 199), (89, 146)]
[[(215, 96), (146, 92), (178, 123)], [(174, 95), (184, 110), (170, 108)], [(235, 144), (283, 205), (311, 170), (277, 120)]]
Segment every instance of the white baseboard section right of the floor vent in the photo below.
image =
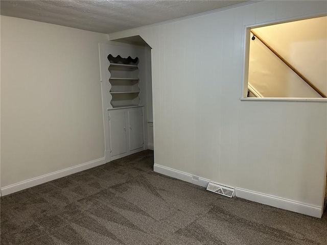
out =
[(302, 213), (309, 216), (321, 218), (322, 207), (301, 203), (285, 198), (275, 197), (274, 195), (268, 195), (256, 191), (246, 190), (242, 188), (235, 188), (235, 195), (238, 198), (243, 198), (257, 203), (266, 204), (272, 207), (286, 209), (296, 213)]

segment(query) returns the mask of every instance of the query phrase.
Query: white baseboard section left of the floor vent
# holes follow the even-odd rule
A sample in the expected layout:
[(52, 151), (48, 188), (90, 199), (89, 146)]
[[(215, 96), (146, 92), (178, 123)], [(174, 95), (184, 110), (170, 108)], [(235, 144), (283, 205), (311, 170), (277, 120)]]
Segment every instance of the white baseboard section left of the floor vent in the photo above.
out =
[(198, 177), (198, 176), (194, 176), (188, 173), (185, 173), (183, 171), (179, 171), (170, 167), (165, 167), (165, 166), (161, 166), (159, 164), (154, 164), (153, 165), (153, 170), (156, 173), (162, 174), (162, 175), (167, 175), (169, 177), (173, 177), (175, 179), (179, 179), (179, 180), (183, 180), (195, 185), (199, 185), (199, 186), (203, 186), (203, 187), (207, 187), (208, 183), (210, 180), (202, 178), (202, 177)]

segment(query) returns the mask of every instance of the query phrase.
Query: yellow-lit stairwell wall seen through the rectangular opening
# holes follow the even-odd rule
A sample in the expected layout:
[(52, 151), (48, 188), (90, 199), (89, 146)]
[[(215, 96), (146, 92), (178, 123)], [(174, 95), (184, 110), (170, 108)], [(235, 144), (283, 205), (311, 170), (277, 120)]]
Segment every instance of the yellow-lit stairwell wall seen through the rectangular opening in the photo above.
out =
[[(327, 94), (327, 17), (253, 30)], [(251, 37), (249, 83), (264, 97), (321, 97), (258, 38)]]

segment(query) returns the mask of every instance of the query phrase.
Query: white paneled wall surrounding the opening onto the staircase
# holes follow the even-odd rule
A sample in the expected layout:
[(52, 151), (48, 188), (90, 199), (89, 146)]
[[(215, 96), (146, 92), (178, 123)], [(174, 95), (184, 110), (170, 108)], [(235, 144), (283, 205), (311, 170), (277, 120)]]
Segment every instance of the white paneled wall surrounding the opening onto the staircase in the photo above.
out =
[(240, 97), (245, 26), (326, 7), (265, 1), (110, 34), (140, 35), (153, 48), (155, 163), (321, 208), (327, 104)]

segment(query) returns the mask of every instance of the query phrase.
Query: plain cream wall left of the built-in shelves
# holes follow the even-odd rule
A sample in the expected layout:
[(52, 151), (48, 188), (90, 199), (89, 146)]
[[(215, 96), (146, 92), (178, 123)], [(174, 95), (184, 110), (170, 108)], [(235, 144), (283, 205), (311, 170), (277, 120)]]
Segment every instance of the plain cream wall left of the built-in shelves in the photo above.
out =
[(1, 186), (104, 157), (99, 42), (1, 16)]

